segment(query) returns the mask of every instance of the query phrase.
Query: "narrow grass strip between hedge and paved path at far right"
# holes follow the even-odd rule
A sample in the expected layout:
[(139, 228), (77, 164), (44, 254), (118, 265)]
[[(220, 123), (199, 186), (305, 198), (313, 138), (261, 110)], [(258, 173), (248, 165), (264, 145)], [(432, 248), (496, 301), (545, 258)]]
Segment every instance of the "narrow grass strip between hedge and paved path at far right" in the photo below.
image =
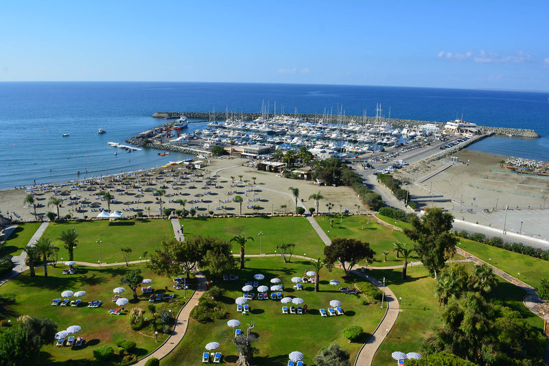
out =
[(459, 243), (461, 244), (458, 246), (465, 252), (477, 256), (513, 277), (518, 277), (535, 288), (542, 278), (549, 278), (549, 262), (547, 260), (492, 247), (469, 239), (459, 239)]

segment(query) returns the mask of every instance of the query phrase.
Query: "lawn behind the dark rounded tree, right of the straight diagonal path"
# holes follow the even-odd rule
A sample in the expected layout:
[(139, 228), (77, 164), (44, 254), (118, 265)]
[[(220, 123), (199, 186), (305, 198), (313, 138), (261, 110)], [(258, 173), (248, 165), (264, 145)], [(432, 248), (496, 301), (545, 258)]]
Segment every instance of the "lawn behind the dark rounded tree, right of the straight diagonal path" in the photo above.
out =
[[(366, 223), (364, 223), (364, 230), (362, 230), (361, 221), (364, 219), (366, 219)], [(324, 230), (330, 239), (346, 237), (370, 243), (370, 247), (375, 252), (372, 264), (374, 267), (402, 264), (401, 258), (397, 259), (395, 252), (393, 252), (393, 243), (395, 241), (412, 245), (412, 241), (408, 239), (404, 232), (390, 230), (390, 228), (363, 215), (344, 216), (342, 222), (340, 222), (340, 217), (336, 217), (334, 218), (334, 228), (330, 228), (327, 217), (316, 217), (316, 222), (318, 222), (320, 228)], [(389, 252), (386, 262), (384, 262), (383, 252)], [(412, 254), (411, 260), (417, 260), (417, 257)]]

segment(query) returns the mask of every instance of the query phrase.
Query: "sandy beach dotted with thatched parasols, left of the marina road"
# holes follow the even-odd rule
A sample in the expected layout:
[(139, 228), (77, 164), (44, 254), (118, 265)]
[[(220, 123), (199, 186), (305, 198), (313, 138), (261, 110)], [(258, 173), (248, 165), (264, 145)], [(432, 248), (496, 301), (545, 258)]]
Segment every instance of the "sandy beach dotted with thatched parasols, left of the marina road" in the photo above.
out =
[(163, 197), (164, 208), (182, 209), (183, 206), (175, 201), (186, 199), (185, 209), (195, 208), (197, 215), (209, 215), (209, 211), (215, 215), (238, 215), (240, 205), (233, 202), (233, 198), (240, 195), (244, 199), (242, 215), (253, 214), (255, 210), (251, 206), (259, 206), (259, 213), (277, 214), (294, 211), (295, 201), (290, 186), (299, 188), (299, 199), (303, 199), (307, 208), (314, 207), (314, 200), (308, 197), (320, 191), (324, 197), (319, 204), (320, 212), (327, 212), (328, 203), (334, 204), (332, 212), (365, 210), (349, 187), (316, 186), (311, 181), (286, 179), (276, 173), (248, 167), (247, 161), (241, 158), (211, 158), (206, 167), (196, 170), (175, 165), (78, 182), (3, 190), (0, 191), (0, 212), (12, 219), (33, 221), (32, 205), (24, 203), (25, 197), (33, 194), (38, 220), (46, 219), (47, 212), (57, 212), (56, 206), (48, 206), (49, 197), (55, 195), (63, 200), (59, 208), (61, 217), (67, 214), (75, 218), (96, 217), (108, 208), (106, 200), (97, 195), (106, 190), (115, 197), (115, 202), (110, 204), (111, 212), (117, 210), (124, 217), (135, 216), (137, 212), (143, 212), (145, 216), (159, 216), (160, 201), (154, 195), (154, 189), (163, 188), (166, 193)]

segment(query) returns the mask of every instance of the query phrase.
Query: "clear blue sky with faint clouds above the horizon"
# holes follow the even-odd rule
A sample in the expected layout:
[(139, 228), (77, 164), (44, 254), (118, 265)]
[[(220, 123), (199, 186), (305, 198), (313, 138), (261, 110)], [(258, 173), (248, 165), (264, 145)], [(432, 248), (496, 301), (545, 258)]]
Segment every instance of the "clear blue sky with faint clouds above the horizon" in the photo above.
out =
[(0, 81), (549, 90), (549, 1), (2, 1)]

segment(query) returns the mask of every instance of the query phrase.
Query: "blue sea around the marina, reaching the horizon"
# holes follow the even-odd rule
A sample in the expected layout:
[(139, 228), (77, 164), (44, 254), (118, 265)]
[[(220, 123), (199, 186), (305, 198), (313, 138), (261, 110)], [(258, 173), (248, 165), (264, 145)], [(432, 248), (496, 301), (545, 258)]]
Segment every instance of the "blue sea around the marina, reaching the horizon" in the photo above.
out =
[[(185, 154), (126, 153), (107, 142), (165, 123), (157, 111), (329, 113), (446, 122), (456, 118), (533, 129), (541, 138), (493, 136), (471, 149), (549, 160), (549, 92), (194, 82), (0, 82), (0, 189), (148, 169)], [(188, 132), (206, 123), (189, 123)], [(106, 130), (97, 134), (97, 129)], [(62, 136), (62, 134), (69, 136)], [(117, 151), (117, 155), (115, 155)], [(78, 174), (80, 172), (80, 174)]]

